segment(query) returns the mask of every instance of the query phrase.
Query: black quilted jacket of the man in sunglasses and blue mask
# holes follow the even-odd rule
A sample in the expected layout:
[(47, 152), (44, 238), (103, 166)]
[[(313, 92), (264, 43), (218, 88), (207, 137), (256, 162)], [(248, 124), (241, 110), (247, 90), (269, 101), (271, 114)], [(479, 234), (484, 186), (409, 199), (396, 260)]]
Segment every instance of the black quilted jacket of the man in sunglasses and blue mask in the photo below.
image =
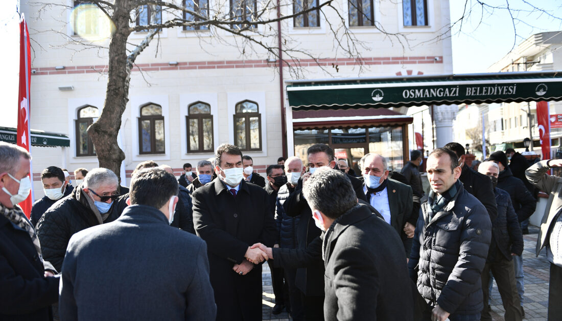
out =
[[(96, 214), (90, 209), (83, 189), (75, 188), (69, 197), (59, 199), (37, 223), (37, 236), (41, 244), (43, 258), (61, 271), (66, 246), (70, 237), (88, 227), (99, 225)], [(115, 221), (120, 211), (114, 201), (110, 214), (103, 223)]]

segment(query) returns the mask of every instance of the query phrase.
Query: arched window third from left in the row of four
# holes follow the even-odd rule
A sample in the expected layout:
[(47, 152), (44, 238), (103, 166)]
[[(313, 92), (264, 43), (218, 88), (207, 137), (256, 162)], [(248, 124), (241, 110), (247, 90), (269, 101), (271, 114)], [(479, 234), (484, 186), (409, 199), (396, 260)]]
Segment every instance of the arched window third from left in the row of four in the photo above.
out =
[(211, 105), (197, 101), (187, 107), (185, 117), (187, 127), (188, 152), (213, 152), (214, 139), (211, 116)]

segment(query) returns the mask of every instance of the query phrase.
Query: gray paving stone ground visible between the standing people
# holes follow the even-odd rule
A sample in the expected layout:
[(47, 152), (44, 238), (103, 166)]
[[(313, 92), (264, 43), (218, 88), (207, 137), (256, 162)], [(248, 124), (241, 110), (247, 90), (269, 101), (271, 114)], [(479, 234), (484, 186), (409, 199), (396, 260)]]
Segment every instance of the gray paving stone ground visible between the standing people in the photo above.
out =
[[(546, 258), (545, 250), (537, 257), (534, 248), (537, 244), (538, 227), (529, 226), (531, 234), (524, 235), (523, 269), (525, 271), (525, 295), (523, 308), (525, 309), (525, 320), (546, 321), (549, 300), (549, 269), (550, 263)], [(262, 317), (264, 320), (289, 321), (288, 313), (274, 315), (271, 308), (274, 304), (273, 289), (271, 287), (271, 275), (268, 264), (264, 264), (262, 274), (263, 296)], [(496, 283), (493, 284), (491, 294), (492, 317), (494, 320), (504, 320), (504, 307), (501, 297), (497, 291)]]

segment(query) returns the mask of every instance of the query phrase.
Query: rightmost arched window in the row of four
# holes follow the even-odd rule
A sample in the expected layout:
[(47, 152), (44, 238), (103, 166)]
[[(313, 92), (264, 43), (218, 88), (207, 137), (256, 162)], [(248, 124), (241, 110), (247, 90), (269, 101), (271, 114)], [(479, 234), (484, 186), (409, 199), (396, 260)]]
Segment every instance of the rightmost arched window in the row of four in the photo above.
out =
[(261, 115), (257, 103), (244, 100), (236, 104), (234, 145), (242, 151), (261, 151)]

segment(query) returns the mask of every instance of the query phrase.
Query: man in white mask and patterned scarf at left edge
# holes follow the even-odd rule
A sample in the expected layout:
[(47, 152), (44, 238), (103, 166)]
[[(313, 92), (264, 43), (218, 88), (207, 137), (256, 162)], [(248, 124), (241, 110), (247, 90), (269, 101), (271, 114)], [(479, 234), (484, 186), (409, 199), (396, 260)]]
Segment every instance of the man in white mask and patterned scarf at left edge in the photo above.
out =
[(0, 142), (0, 320), (51, 320), (59, 276), (43, 261), (37, 234), (17, 203), (31, 189), (24, 148)]

